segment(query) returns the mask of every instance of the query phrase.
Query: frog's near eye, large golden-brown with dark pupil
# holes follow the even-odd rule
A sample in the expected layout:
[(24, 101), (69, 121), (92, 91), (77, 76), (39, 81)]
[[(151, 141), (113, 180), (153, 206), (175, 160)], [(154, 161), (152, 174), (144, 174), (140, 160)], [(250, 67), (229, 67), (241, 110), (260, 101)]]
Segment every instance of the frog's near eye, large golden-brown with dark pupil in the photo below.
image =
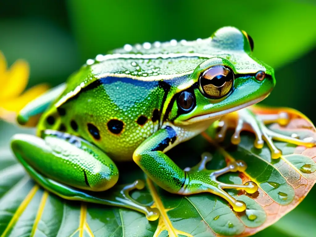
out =
[(224, 66), (214, 66), (204, 71), (199, 78), (202, 94), (210, 98), (227, 95), (234, 83), (234, 73)]

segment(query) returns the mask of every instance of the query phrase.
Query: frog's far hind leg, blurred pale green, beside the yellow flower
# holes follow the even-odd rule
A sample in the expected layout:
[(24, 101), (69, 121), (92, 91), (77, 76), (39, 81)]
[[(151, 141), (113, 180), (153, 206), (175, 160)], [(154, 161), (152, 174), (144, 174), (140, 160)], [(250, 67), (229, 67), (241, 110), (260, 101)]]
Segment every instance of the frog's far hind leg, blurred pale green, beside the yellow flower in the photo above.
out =
[[(57, 87), (54, 87), (48, 90), (46, 93), (40, 95), (36, 99), (29, 102), (18, 114), (17, 122), (20, 125), (30, 125), (30, 119), (35, 118), (36, 116), (43, 113), (48, 106), (60, 96), (60, 94), (66, 88), (66, 84), (60, 84)], [(36, 125), (36, 123), (32, 123)]]

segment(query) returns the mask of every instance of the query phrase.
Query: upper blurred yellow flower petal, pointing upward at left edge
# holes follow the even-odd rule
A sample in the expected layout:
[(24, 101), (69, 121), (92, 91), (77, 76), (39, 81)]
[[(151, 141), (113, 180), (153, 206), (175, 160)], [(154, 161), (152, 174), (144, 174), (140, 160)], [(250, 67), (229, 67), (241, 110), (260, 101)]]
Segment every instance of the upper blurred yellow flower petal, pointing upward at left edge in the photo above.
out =
[(25, 89), (29, 76), (29, 66), (24, 60), (16, 60), (7, 72), (6, 84), (0, 87), (0, 99), (19, 96)]

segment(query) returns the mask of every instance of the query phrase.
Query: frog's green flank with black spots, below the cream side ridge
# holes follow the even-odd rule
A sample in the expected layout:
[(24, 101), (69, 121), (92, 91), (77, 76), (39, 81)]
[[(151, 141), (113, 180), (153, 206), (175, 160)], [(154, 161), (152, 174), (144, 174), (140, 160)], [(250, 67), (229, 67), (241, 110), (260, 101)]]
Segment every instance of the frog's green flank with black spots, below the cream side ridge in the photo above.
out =
[(107, 76), (73, 96), (67, 87), (41, 117), (38, 133), (67, 132), (96, 144), (113, 159), (131, 160), (137, 146), (161, 125), (164, 86), (158, 81)]

